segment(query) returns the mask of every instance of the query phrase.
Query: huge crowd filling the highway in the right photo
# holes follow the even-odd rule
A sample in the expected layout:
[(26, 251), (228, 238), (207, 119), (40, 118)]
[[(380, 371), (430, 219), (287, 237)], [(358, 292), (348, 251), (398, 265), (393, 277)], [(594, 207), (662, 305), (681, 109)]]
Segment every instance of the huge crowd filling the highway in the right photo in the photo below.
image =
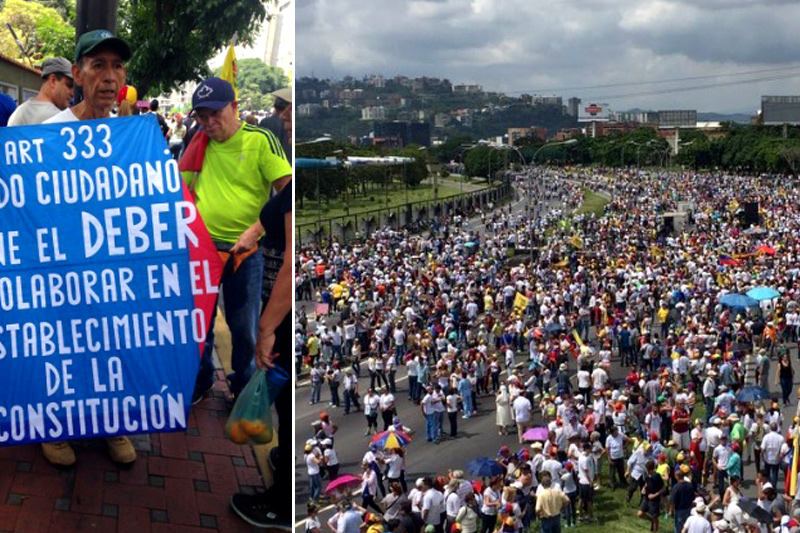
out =
[[(454, 470), (408, 491), (405, 450), (372, 445), (363, 507), (346, 499), (328, 525), (483, 533), (539, 520), (557, 531), (562, 519), (594, 519), (602, 479), (602, 490), (638, 503), (651, 531), (662, 515), (676, 533), (800, 531), (800, 424), (781, 406), (794, 402), (800, 325), (791, 184), (531, 172), (519, 180), (518, 212), (467, 212), (421, 235), (383, 228), (296, 251), (296, 298), (317, 314), (297, 321), (295, 355), (307, 400), (324, 398), (326, 417), (361, 411), (367, 435), (402, 431), (396, 405), (418, 403), (435, 445), (493, 408), (498, 432), (516, 431), (520, 446), (501, 448), (503, 472), (485, 483)], [(602, 216), (568, 216), (584, 187), (609, 200)], [(760, 220), (743, 218), (749, 202)], [(776, 296), (721, 301), (756, 287)], [(534, 427), (544, 429), (532, 441)], [(333, 433), (316, 433), (300, 435), (311, 437), (313, 500), (330, 457), (338, 462)]]

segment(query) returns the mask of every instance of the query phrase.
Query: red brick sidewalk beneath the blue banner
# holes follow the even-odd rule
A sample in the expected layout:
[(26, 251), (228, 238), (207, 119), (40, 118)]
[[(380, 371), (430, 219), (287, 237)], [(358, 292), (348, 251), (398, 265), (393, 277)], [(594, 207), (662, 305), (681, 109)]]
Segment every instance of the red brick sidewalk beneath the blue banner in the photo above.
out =
[[(220, 329), (224, 365), (230, 345)], [(0, 447), (0, 533), (264, 531), (230, 508), (233, 493), (263, 489), (264, 481), (253, 447), (225, 438), (223, 369), (217, 378), (192, 407), (185, 432), (131, 437), (139, 458), (128, 469), (111, 461), (101, 439), (75, 442), (78, 462), (66, 470), (51, 466), (38, 444)]]

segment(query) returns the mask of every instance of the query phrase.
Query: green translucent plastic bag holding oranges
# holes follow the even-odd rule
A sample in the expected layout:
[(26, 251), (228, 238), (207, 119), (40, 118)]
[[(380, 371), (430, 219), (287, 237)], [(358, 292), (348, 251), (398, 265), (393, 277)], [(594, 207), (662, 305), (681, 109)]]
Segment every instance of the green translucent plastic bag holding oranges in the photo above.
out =
[(272, 441), (272, 398), (265, 370), (256, 370), (236, 399), (225, 435), (236, 444), (267, 444)]

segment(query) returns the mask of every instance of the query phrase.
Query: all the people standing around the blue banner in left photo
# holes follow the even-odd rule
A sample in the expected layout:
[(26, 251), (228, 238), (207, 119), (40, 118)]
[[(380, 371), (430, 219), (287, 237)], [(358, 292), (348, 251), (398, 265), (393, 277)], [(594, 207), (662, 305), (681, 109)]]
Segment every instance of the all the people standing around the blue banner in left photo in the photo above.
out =
[[(74, 62), (50, 58), (42, 65), (38, 95), (13, 106), (0, 126), (67, 123), (152, 113), (161, 133), (179, 161), (189, 193), (211, 239), (224, 258), (220, 302), (232, 339), (232, 368), (227, 376), (235, 399), (256, 368), (282, 367), (291, 375), (288, 356), (292, 344), (292, 292), (289, 257), (292, 254), (293, 199), (291, 128), (292, 90), (273, 93), (275, 112), (264, 117), (262, 129), (255, 115), (239, 108), (233, 86), (211, 77), (192, 95), (189, 124), (177, 114), (164, 118), (158, 100), (140, 109), (127, 99), (126, 64), (133, 56), (128, 43), (108, 30), (83, 33)], [(74, 90), (82, 98), (74, 101)], [(131, 94), (133, 94), (131, 92)], [(2, 103), (2, 102), (0, 102)], [(7, 103), (7, 101), (6, 101)], [(2, 110), (12, 106), (3, 103)], [(283, 141), (283, 142), (281, 142)], [(284, 148), (285, 147), (285, 148)], [(214, 316), (205, 340), (192, 405), (207, 398), (216, 379), (212, 360)], [(291, 387), (272, 398), (278, 413), (278, 440), (292, 442)], [(112, 460), (130, 465), (137, 452), (126, 436), (106, 439)], [(231, 506), (244, 520), (262, 527), (290, 530), (291, 471), (280, 460), (280, 448), (270, 456), (274, 485), (258, 494), (238, 493)], [(68, 442), (45, 442), (44, 457), (54, 466), (71, 467), (77, 461)]]

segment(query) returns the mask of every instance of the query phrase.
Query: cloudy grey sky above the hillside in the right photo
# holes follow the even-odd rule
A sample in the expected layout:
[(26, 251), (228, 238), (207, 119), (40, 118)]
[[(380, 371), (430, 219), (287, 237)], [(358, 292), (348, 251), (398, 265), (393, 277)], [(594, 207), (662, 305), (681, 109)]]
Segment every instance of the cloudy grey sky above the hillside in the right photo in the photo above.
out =
[[(433, 76), (615, 110), (753, 113), (762, 94), (800, 94), (800, 0), (299, 0), (296, 9), (299, 77)], [(624, 96), (787, 74), (797, 77)]]

